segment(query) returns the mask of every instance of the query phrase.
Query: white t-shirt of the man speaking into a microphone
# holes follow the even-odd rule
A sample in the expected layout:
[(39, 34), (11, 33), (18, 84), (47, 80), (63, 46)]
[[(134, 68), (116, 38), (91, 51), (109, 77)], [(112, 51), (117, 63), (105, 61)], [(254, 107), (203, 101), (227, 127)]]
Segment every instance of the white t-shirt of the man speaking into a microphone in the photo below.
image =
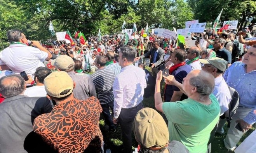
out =
[(0, 65), (7, 65), (14, 73), (25, 71), (34, 78), (37, 67), (45, 67), (43, 61), (48, 53), (26, 44), (11, 44), (0, 52)]

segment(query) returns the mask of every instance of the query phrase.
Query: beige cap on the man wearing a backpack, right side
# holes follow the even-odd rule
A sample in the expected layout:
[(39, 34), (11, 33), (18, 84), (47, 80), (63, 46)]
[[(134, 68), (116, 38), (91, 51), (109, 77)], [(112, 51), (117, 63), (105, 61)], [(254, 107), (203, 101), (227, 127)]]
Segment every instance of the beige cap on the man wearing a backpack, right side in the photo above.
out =
[(224, 72), (226, 69), (228, 69), (228, 62), (219, 57), (212, 57), (207, 60), (199, 59), (199, 61), (202, 64), (211, 64), (214, 67), (216, 67), (217, 69), (221, 70), (222, 72)]

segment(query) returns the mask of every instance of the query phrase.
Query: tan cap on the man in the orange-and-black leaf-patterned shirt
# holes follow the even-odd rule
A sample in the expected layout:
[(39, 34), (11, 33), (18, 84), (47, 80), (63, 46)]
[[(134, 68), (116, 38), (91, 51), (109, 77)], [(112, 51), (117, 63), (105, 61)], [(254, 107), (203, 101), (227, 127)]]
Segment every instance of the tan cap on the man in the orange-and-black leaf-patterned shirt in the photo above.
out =
[[(62, 98), (73, 92), (74, 82), (67, 72), (56, 71), (45, 77), (44, 88), (48, 95), (55, 98)], [(61, 95), (61, 93), (66, 89), (70, 89), (70, 91)]]

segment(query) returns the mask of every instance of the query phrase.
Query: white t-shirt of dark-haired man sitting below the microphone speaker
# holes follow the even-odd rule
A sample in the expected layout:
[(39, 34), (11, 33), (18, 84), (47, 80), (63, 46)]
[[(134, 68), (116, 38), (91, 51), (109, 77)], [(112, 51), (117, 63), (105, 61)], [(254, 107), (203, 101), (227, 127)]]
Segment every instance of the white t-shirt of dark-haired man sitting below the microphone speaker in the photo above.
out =
[(30, 88), (27, 88), (24, 92), (24, 95), (29, 97), (45, 97), (46, 91), (44, 89), (44, 86), (33, 86)]

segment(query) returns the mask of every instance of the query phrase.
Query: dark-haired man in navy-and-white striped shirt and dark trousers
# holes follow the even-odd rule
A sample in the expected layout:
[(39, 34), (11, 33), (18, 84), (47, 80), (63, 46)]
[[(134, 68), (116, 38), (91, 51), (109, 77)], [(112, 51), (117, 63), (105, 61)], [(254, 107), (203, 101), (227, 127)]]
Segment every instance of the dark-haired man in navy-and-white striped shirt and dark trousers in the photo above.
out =
[(91, 75), (92, 82), (95, 85), (99, 103), (103, 109), (103, 116), (105, 118), (106, 124), (109, 127), (108, 130), (110, 132), (115, 132), (116, 127), (113, 124), (113, 120), (110, 115), (110, 109), (112, 112), (114, 112), (114, 94), (112, 86), (115, 79), (115, 74), (112, 70), (105, 68), (106, 58), (98, 56), (96, 57), (94, 63), (98, 69), (94, 74)]

